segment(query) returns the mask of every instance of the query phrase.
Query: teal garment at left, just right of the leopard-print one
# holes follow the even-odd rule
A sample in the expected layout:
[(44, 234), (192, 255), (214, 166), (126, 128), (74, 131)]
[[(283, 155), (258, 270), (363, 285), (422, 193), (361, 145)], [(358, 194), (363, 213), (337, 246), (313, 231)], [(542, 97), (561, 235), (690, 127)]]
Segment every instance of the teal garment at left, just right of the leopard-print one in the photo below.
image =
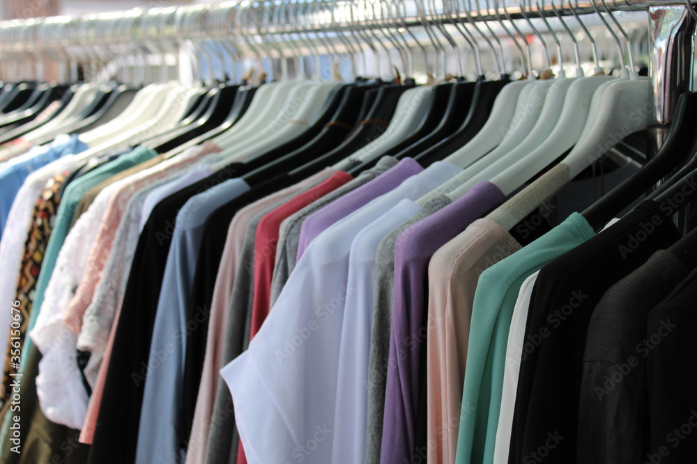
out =
[[(157, 156), (157, 152), (154, 152), (150, 148), (137, 147), (130, 153), (122, 154), (120, 157), (114, 159), (114, 161), (109, 161), (68, 184), (65, 191), (63, 191), (63, 198), (61, 198), (58, 211), (56, 211), (56, 219), (51, 237), (49, 237), (46, 253), (41, 262), (41, 271), (39, 273), (38, 282), (36, 282), (36, 294), (34, 294), (33, 309), (29, 316), (27, 331), (31, 330), (36, 323), (36, 318), (38, 317), (43, 303), (44, 292), (46, 291), (46, 287), (48, 287), (49, 280), (51, 280), (51, 275), (56, 266), (56, 260), (58, 259), (58, 254), (61, 251), (63, 242), (66, 241), (66, 237), (68, 236), (70, 223), (72, 223), (72, 215), (75, 214), (77, 205), (82, 200), (85, 193), (93, 186), (101, 184), (109, 179), (112, 175), (121, 173), (121, 171), (132, 168), (144, 161), (148, 161), (148, 159), (155, 156)], [(31, 337), (25, 337), (22, 352), (28, 352), (30, 347)], [(22, 368), (23, 367), (24, 363), (22, 363)], [(22, 369), (20, 369), (20, 371), (22, 371)]]

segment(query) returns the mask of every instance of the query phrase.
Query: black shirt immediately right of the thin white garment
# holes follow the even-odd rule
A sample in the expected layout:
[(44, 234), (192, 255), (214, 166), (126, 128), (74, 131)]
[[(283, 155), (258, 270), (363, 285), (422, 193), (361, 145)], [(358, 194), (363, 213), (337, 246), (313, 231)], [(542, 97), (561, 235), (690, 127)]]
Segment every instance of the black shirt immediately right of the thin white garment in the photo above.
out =
[(524, 463), (555, 435), (550, 462), (576, 462), (578, 406), (588, 323), (605, 291), (680, 238), (652, 201), (542, 268), (530, 299), (526, 339), (543, 335), (521, 362), (509, 454)]

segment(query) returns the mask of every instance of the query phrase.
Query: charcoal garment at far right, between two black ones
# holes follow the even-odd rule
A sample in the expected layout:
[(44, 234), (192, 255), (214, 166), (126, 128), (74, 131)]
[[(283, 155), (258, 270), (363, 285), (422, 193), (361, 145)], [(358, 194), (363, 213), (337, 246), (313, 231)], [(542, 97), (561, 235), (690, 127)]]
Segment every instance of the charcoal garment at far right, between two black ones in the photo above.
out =
[(593, 310), (583, 353), (579, 461), (638, 462), (650, 453), (645, 442), (649, 350), (641, 348), (645, 320), (689, 271), (675, 255), (659, 250), (610, 287)]

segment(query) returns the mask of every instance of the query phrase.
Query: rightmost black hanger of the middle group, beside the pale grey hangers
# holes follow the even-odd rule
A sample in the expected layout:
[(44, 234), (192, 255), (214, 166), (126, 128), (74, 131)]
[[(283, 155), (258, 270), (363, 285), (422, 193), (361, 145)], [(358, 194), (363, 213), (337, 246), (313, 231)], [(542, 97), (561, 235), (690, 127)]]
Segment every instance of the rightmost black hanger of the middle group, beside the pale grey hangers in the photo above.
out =
[(498, 81), (481, 81), (480, 85), (475, 89), (475, 95), (467, 116), (457, 131), (439, 141), (436, 145), (429, 147), (423, 153), (418, 154), (414, 159), (426, 167), (466, 145), (482, 130), (491, 114), (493, 102), (501, 92), (501, 89), (510, 81), (507, 74), (504, 74)]

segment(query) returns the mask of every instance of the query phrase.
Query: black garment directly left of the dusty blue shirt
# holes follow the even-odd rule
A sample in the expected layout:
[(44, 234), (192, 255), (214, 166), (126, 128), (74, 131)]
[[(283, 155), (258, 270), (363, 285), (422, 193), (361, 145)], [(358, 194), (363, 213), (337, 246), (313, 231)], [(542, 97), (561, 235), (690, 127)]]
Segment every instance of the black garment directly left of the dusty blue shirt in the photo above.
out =
[(153, 208), (138, 239), (123, 296), (90, 463), (135, 461), (153, 324), (179, 209), (197, 193), (239, 177), (245, 170), (248, 167), (244, 164), (233, 163), (164, 198)]

